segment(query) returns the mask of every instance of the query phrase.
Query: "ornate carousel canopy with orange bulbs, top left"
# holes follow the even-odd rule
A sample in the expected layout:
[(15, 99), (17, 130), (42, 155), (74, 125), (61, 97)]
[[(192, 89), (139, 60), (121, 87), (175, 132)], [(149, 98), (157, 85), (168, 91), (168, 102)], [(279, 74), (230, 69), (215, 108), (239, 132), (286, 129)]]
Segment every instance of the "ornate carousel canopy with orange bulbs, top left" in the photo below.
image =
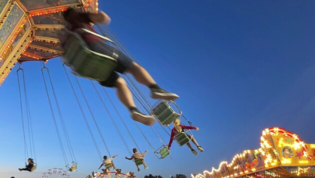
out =
[(62, 53), (61, 12), (69, 6), (95, 12), (97, 0), (0, 0), (0, 85), (17, 61)]

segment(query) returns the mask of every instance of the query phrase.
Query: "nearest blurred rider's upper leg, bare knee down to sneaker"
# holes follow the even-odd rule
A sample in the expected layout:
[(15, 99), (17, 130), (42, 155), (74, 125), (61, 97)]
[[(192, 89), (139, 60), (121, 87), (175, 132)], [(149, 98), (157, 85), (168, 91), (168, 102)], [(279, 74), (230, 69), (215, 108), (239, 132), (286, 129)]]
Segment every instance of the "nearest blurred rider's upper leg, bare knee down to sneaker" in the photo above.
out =
[(175, 100), (179, 96), (175, 93), (167, 92), (160, 88), (152, 76), (140, 65), (132, 62), (132, 65), (126, 69), (126, 72), (131, 73), (133, 77), (141, 84), (151, 89), (151, 97), (157, 99)]

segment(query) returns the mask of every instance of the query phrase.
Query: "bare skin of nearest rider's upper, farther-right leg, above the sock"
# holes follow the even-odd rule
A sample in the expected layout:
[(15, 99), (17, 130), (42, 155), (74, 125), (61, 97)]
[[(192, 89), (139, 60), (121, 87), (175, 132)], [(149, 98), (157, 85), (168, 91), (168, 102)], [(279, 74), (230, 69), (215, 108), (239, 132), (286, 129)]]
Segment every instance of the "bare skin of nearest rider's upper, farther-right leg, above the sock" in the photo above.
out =
[(126, 72), (131, 73), (139, 83), (144, 84), (147, 87), (156, 84), (152, 76), (143, 67), (135, 62), (132, 62), (132, 64), (133, 65), (128, 68)]

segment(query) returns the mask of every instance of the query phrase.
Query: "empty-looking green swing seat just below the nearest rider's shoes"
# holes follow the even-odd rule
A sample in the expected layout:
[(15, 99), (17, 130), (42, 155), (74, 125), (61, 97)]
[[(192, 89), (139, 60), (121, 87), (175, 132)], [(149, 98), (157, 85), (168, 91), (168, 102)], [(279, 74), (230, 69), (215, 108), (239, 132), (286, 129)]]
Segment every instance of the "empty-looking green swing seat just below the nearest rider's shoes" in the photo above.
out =
[(168, 126), (180, 116), (180, 114), (176, 113), (166, 101), (161, 101), (157, 104), (152, 109), (152, 113), (156, 116), (158, 122), (165, 126)]

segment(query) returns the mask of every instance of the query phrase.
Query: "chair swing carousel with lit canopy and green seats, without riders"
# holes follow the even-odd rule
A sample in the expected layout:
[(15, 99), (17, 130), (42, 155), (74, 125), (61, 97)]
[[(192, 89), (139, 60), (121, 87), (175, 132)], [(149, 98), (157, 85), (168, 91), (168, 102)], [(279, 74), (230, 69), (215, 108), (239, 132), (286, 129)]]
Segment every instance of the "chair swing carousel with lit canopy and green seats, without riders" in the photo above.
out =
[[(116, 67), (117, 61), (115, 58), (117, 56), (114, 52), (111, 56), (93, 52), (88, 49), (85, 42), (81, 39), (78, 34), (80, 33), (79, 31), (71, 33), (62, 30), (65, 28), (65, 21), (61, 15), (62, 11), (69, 6), (77, 7), (79, 11), (97, 11), (97, 0), (55, 1), (55, 4), (48, 4), (43, 0), (3, 0), (3, 3), (0, 4), (0, 10), (2, 9), (2, 11), (0, 11), (0, 27), (7, 24), (8, 21), (11, 21), (11, 24), (15, 25), (7, 28), (10, 31), (5, 32), (5, 35), (0, 38), (0, 85), (17, 61), (20, 63), (33, 60), (46, 62), (48, 59), (56, 56), (64, 56), (62, 57), (64, 64), (67, 65), (75, 75), (97, 81), (105, 80), (109, 73), (112, 72), (113, 68)], [(104, 28), (99, 28), (101, 28), (100, 31), (104, 34)], [(0, 28), (0, 32), (4, 32), (4, 30)], [(86, 29), (80, 30), (93, 33)], [(65, 36), (65, 33), (69, 35), (65, 39), (63, 46), (61, 46), (59, 38), (60, 36)], [(111, 43), (114, 47), (116, 46), (109, 38), (98, 36), (103, 38), (106, 42)], [(117, 43), (117, 41), (115, 42)], [(119, 47), (121, 48), (120, 45)], [(45, 69), (47, 68), (43, 67), (42, 71)], [(175, 112), (170, 106), (172, 104), (175, 105), (178, 112)], [(161, 100), (154, 106), (149, 107), (151, 107), (151, 114), (156, 117), (162, 126), (168, 126), (182, 114), (173, 101)], [(175, 135), (175, 139), (180, 146), (190, 140), (186, 134), (187, 131), (189, 130)], [(160, 134), (158, 133), (157, 135)], [(130, 136), (132, 137), (131, 134)], [(145, 137), (144, 134), (143, 136)], [(165, 158), (170, 154), (165, 142), (161, 142), (163, 143), (162, 146), (158, 149), (154, 149), (148, 141), (154, 154), (159, 159)], [(65, 158), (68, 171), (77, 170), (75, 158), (72, 158), (72, 160), (72, 162), (68, 163)], [(135, 164), (143, 164), (143, 160), (135, 160)], [(33, 167), (33, 170), (36, 169), (36, 164), (34, 164)]]

